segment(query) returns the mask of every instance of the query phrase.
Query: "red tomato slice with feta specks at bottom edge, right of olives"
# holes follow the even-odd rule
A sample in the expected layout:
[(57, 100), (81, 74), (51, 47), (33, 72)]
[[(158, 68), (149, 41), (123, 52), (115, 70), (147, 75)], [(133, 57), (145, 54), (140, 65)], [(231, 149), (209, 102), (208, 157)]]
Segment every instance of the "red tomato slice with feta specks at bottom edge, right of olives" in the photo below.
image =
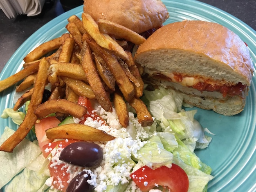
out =
[(155, 170), (145, 165), (130, 174), (130, 177), (145, 192), (159, 185), (172, 192), (187, 192), (189, 189), (186, 172), (176, 164), (172, 164), (171, 168), (162, 166)]

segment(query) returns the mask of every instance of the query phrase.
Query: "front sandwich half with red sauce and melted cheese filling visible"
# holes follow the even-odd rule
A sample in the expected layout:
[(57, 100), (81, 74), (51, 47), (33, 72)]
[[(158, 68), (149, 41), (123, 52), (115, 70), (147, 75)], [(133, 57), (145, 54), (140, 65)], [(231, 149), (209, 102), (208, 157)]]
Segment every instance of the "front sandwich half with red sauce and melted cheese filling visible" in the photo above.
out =
[(165, 25), (139, 46), (134, 59), (149, 83), (175, 89), (185, 103), (226, 116), (245, 107), (253, 74), (249, 49), (222, 25), (199, 20)]

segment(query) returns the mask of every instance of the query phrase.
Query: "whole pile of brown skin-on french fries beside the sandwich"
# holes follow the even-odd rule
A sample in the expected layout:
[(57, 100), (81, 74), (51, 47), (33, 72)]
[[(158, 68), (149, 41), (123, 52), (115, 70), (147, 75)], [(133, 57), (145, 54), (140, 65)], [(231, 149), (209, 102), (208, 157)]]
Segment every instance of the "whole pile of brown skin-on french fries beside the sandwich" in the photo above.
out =
[[(23, 69), (0, 81), (0, 91), (22, 80), (16, 92), (25, 91), (17, 100), (18, 110), (30, 100), (23, 123), (0, 150), (12, 152), (40, 118), (56, 113), (81, 118), (87, 108), (77, 103), (79, 96), (94, 99), (107, 112), (114, 105), (119, 122), (129, 124), (126, 102), (132, 106), (142, 126), (153, 123), (146, 105), (140, 100), (144, 83), (141, 69), (132, 58), (129, 45), (140, 45), (145, 38), (130, 29), (82, 13), (68, 18), (68, 33), (39, 45), (24, 58)], [(46, 85), (51, 85), (49, 99), (42, 103)], [(30, 88), (32, 87), (32, 88)], [(83, 127), (83, 128), (81, 128)], [(109, 141), (113, 136), (86, 125), (70, 124), (47, 130), (47, 137)], [(83, 136), (81, 136), (83, 135)]]

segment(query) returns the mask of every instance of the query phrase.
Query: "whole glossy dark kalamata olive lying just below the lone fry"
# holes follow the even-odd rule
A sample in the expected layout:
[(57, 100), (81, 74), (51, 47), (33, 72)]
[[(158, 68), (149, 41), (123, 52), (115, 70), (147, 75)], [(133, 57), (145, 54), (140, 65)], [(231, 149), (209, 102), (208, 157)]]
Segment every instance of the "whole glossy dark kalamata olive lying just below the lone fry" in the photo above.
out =
[(79, 141), (67, 145), (61, 152), (60, 160), (81, 167), (94, 167), (101, 163), (103, 152), (99, 145)]

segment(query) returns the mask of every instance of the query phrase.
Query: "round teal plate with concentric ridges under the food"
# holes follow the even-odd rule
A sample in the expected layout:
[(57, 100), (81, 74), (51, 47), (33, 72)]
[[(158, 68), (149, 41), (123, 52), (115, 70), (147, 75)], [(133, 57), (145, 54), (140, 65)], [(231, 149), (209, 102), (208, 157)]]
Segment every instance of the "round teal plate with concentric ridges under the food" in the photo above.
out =
[[(213, 135), (209, 147), (196, 150), (200, 159), (212, 167), (214, 179), (208, 184), (209, 192), (255, 192), (256, 191), (256, 31), (234, 16), (195, 0), (162, 0), (169, 11), (170, 22), (205, 20), (217, 22), (234, 31), (245, 41), (254, 62), (252, 85), (247, 96), (245, 109), (235, 116), (222, 116), (213, 111), (198, 109), (196, 118)], [(31, 35), (13, 54), (0, 74), (0, 80), (22, 69), (23, 58), (35, 47), (47, 40), (66, 33), (67, 18), (81, 17), (83, 6), (77, 7), (48, 22)], [(15, 87), (0, 93), (0, 112), (13, 107)], [(190, 109), (187, 109), (190, 110)], [(0, 119), (2, 134), (4, 127), (17, 129), (10, 119)], [(31, 135), (29, 135), (31, 138)]]

